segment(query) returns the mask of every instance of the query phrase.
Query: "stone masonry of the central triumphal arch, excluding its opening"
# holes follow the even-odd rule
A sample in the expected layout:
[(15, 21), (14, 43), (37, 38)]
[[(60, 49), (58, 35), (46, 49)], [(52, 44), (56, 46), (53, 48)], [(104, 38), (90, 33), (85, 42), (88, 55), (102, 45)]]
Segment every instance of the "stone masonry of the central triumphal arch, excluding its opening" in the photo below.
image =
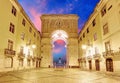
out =
[[(57, 30), (62, 30), (68, 36), (67, 39), (67, 64), (78, 66), (78, 34), (76, 15), (42, 15), (42, 66), (53, 66), (52, 62), (52, 34)], [(68, 66), (67, 65), (67, 66)]]

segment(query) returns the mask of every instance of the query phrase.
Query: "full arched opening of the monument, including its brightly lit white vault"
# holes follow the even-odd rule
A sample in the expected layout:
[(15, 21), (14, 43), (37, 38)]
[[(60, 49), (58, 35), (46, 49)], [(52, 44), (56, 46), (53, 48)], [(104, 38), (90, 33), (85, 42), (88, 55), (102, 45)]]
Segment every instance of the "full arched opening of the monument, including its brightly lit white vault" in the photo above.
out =
[(67, 38), (68, 35), (63, 30), (56, 30), (52, 33), (52, 65), (53, 67), (67, 67)]

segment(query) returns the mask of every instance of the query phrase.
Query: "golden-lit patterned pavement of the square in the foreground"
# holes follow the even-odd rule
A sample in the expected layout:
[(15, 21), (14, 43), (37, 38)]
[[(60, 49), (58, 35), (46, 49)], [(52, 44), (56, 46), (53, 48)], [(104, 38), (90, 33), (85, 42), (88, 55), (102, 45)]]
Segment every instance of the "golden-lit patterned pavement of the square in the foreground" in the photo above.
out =
[(120, 83), (120, 77), (79, 69), (41, 68), (0, 73), (0, 83)]

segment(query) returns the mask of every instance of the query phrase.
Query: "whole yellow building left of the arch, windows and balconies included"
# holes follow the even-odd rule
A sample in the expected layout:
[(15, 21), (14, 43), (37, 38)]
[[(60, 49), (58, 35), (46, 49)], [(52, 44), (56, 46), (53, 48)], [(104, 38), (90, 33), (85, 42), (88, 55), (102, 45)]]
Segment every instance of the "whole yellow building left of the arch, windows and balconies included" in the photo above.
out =
[(40, 32), (17, 0), (1, 0), (0, 6), (0, 71), (39, 67)]

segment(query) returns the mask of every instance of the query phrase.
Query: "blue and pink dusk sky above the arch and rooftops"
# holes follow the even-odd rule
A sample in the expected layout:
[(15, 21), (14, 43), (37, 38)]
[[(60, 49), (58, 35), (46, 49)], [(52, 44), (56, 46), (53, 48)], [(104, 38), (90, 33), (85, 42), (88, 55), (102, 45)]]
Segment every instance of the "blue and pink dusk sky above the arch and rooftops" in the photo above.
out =
[(18, 0), (36, 28), (41, 30), (42, 14), (77, 14), (78, 31), (93, 12), (99, 0)]

